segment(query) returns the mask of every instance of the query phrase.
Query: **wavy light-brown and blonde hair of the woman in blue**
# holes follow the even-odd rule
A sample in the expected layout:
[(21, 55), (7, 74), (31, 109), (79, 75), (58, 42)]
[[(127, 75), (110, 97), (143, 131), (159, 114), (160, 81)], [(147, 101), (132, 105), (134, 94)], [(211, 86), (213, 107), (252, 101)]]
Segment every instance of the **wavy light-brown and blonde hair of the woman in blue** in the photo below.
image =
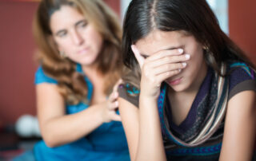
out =
[(104, 76), (104, 92), (109, 95), (118, 81), (122, 62), (120, 56), (122, 30), (118, 17), (101, 0), (42, 0), (34, 17), (34, 38), (38, 45), (38, 61), (46, 75), (58, 81), (59, 92), (67, 104), (89, 103), (84, 76), (76, 71), (76, 63), (63, 59), (50, 30), (50, 16), (61, 6), (72, 6), (86, 17), (102, 35), (101, 52), (96, 58), (98, 72)]

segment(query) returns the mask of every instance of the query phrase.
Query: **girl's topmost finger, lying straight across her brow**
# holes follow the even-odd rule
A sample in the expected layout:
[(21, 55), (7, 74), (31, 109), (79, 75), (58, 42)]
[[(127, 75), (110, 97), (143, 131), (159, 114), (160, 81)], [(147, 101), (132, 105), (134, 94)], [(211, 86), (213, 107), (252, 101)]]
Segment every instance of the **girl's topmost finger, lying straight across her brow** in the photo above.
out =
[(155, 61), (162, 57), (182, 55), (182, 53), (184, 53), (184, 50), (181, 48), (180, 49), (165, 49), (165, 50), (159, 51), (158, 53), (154, 53), (153, 55), (148, 57), (146, 60), (147, 61)]

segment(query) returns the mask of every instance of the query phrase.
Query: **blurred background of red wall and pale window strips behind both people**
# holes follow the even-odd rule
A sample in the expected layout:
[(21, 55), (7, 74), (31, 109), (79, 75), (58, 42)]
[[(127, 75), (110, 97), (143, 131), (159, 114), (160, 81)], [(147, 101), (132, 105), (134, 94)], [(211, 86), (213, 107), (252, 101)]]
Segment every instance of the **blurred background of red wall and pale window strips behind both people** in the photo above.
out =
[[(130, 0), (104, 1), (119, 15), (122, 23)], [(256, 64), (256, 1), (207, 1), (223, 31)], [(14, 132), (18, 118), (24, 115), (36, 116), (34, 73), (38, 64), (34, 60), (36, 45), (32, 35), (32, 20), (38, 2), (0, 0), (0, 152), (6, 150), (7, 145), (17, 142), (15, 134), (12, 137), (10, 135)]]

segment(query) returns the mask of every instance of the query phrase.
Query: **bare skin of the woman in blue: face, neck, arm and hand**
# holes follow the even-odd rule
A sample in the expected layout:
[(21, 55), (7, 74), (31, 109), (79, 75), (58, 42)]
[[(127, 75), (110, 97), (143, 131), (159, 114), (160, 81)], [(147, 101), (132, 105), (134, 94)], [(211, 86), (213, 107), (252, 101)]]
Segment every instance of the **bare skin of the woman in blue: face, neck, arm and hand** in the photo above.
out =
[(118, 84), (107, 99), (103, 92), (102, 76), (94, 68), (94, 62), (102, 48), (101, 34), (71, 6), (62, 6), (52, 14), (50, 29), (58, 50), (64, 52), (67, 58), (81, 64), (83, 72), (94, 84), (90, 107), (73, 115), (66, 115), (65, 100), (58, 92), (56, 84), (36, 85), (42, 138), (47, 146), (56, 147), (90, 134), (103, 123), (120, 121), (121, 118), (115, 112), (118, 108)]

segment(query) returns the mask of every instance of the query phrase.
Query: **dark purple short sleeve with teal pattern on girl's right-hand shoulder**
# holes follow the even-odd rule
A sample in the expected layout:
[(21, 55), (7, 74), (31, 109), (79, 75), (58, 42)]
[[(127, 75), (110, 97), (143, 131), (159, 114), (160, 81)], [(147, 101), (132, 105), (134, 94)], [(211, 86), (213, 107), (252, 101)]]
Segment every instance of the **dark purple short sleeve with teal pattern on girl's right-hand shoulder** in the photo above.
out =
[(253, 90), (256, 92), (256, 73), (244, 62), (232, 61), (227, 65), (227, 77), (229, 79), (229, 100), (238, 92)]

